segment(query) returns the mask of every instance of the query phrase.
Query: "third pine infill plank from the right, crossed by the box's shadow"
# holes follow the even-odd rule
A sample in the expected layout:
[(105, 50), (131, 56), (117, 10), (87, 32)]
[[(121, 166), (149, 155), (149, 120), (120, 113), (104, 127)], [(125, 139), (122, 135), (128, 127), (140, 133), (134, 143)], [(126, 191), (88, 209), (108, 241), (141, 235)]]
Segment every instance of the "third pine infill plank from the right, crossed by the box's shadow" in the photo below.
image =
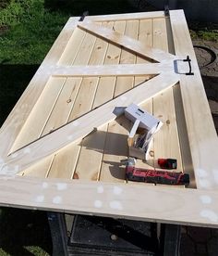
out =
[[(125, 35), (137, 39), (138, 20), (127, 20)], [(136, 56), (126, 50), (121, 51), (119, 63), (132, 63), (136, 61)], [(133, 87), (134, 77), (117, 77), (115, 82), (115, 94), (126, 92)], [(107, 130), (107, 137), (103, 151), (103, 164), (100, 180), (107, 182), (124, 182), (125, 166), (120, 166), (120, 160), (127, 159), (127, 133), (130, 131), (131, 124), (122, 116), (114, 122), (110, 122)]]

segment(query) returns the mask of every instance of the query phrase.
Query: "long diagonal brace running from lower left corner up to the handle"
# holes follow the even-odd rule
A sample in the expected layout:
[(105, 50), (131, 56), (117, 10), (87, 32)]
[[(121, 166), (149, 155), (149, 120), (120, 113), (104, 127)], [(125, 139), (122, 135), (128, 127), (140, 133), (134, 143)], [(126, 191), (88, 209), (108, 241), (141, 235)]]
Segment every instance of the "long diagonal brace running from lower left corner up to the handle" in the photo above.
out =
[(175, 85), (177, 82), (177, 74), (165, 72), (148, 82), (141, 83), (139, 86), (127, 91), (127, 93), (103, 104), (98, 109), (91, 110), (91, 112), (83, 115), (78, 120), (70, 122), (55, 130), (54, 133), (47, 134), (29, 146), (12, 153), (6, 158), (6, 162), (2, 163), (0, 173), (15, 174), (28, 168), (37, 160), (41, 160), (62, 147), (66, 147), (70, 143), (90, 134), (94, 128), (115, 120), (114, 110), (116, 107), (127, 107), (132, 102), (141, 104), (151, 96), (161, 93), (164, 89)]

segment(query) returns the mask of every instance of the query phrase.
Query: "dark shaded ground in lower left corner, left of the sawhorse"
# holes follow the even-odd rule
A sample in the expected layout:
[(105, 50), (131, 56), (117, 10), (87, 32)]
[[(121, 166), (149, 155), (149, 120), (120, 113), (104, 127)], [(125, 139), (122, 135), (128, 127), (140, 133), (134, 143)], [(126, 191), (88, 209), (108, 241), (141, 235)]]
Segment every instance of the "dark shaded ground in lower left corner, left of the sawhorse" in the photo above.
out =
[[(45, 211), (0, 209), (0, 254), (51, 255), (52, 240)], [(4, 252), (3, 252), (4, 251)], [(42, 252), (43, 251), (43, 252)]]

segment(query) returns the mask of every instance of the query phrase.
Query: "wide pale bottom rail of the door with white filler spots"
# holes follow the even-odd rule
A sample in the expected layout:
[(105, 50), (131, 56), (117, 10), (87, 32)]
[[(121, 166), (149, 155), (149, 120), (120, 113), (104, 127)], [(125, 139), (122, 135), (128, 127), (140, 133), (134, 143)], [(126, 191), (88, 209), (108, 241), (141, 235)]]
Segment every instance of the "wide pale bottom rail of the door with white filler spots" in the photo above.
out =
[(214, 190), (3, 175), (0, 186), (6, 207), (218, 227)]

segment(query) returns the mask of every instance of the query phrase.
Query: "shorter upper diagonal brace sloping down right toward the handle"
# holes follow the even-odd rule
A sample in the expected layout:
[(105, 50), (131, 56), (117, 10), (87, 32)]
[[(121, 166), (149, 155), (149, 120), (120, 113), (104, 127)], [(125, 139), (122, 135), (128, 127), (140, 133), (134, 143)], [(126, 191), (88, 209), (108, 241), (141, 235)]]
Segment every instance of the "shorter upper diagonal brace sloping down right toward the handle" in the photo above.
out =
[(151, 46), (145, 46), (138, 40), (130, 38), (127, 35), (123, 35), (119, 32), (103, 28), (103, 26), (94, 24), (93, 22), (83, 21), (79, 23), (78, 27), (97, 36), (101, 36), (104, 40), (110, 41), (115, 45), (123, 46), (143, 58), (151, 58), (158, 62), (175, 58), (174, 55), (166, 53), (160, 49), (152, 48)]

